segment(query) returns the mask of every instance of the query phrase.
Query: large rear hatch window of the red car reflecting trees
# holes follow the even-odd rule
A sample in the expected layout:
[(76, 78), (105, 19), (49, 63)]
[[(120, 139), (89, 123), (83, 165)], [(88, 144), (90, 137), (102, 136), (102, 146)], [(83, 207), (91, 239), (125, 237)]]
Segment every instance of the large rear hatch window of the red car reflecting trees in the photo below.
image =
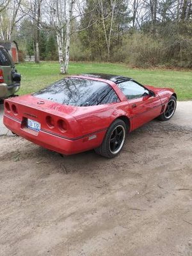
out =
[(109, 84), (77, 77), (65, 77), (33, 95), (71, 106), (95, 106), (119, 101)]

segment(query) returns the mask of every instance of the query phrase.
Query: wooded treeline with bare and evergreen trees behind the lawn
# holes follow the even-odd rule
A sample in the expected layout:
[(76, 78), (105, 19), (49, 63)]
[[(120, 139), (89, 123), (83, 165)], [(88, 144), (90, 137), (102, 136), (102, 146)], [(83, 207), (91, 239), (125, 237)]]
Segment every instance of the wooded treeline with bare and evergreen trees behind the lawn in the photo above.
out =
[(40, 60), (192, 67), (192, 0), (1, 0), (0, 38)]

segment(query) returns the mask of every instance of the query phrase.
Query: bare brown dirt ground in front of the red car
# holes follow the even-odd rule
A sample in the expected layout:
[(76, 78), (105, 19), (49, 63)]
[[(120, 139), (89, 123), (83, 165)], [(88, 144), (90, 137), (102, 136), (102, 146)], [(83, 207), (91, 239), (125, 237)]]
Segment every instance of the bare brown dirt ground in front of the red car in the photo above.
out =
[(192, 127), (175, 118), (112, 160), (2, 136), (0, 255), (191, 256)]

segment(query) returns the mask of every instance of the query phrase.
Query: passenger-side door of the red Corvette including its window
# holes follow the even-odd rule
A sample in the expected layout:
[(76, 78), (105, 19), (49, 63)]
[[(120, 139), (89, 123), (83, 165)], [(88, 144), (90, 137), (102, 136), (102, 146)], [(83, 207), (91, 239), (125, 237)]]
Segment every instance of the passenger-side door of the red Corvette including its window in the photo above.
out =
[(119, 83), (118, 87), (127, 97), (132, 129), (136, 129), (160, 115), (162, 106), (159, 95), (155, 95), (145, 86), (132, 80)]

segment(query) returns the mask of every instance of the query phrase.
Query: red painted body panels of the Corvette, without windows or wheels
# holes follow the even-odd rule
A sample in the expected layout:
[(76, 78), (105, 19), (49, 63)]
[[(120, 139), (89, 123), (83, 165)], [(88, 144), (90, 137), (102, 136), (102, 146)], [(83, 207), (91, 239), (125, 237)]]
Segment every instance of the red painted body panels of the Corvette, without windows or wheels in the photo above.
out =
[[(145, 86), (156, 96), (127, 100), (113, 81), (88, 76), (72, 77), (108, 83), (115, 90), (120, 102), (77, 107), (41, 100), (33, 95), (23, 95), (4, 100), (4, 125), (15, 134), (49, 150), (66, 155), (76, 154), (99, 147), (108, 127), (116, 118), (127, 118), (128, 132), (156, 118), (166, 108), (174, 93), (168, 88)], [(44, 104), (39, 104), (41, 101)], [(50, 116), (54, 120), (51, 125), (47, 124)], [(40, 131), (29, 129), (26, 125), (27, 118), (39, 122)], [(60, 120), (65, 124), (64, 130), (58, 125)]]

